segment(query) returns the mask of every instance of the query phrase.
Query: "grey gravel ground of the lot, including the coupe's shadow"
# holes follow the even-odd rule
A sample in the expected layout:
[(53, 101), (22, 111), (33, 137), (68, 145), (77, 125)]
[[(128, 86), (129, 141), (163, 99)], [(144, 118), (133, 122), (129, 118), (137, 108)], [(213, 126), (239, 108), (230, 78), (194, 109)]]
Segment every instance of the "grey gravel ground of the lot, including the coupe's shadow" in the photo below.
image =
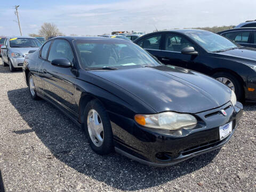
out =
[(0, 169), (7, 192), (256, 191), (256, 105), (244, 106), (222, 149), (156, 168), (95, 154), (65, 115), (30, 98), (22, 71), (0, 65), (0, 87)]

